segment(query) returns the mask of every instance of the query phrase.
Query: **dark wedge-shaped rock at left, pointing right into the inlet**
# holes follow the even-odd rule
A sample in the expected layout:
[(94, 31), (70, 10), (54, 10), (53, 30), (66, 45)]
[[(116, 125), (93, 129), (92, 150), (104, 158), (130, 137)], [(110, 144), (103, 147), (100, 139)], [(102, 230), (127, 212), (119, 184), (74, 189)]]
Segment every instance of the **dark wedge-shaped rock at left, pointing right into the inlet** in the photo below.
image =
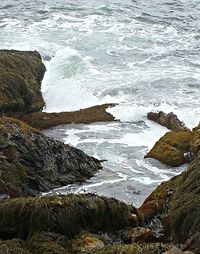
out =
[(19, 120), (0, 118), (0, 194), (35, 195), (81, 182), (100, 168), (99, 160), (81, 150)]

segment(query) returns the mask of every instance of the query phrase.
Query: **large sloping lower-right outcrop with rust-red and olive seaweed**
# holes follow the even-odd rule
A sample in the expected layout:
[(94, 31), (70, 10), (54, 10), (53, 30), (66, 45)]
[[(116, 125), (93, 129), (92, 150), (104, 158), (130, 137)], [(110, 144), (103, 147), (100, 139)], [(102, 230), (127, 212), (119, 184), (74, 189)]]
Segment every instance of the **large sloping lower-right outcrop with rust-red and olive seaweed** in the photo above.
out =
[(157, 229), (162, 241), (200, 253), (200, 159), (181, 175), (159, 185), (140, 212), (147, 227)]

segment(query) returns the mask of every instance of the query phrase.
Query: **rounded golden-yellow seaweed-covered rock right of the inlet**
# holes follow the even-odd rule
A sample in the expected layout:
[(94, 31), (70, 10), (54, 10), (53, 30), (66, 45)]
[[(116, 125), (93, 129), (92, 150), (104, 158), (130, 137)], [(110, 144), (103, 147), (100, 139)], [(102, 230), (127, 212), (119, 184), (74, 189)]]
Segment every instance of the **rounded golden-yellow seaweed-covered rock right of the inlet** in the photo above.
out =
[(187, 163), (191, 160), (189, 153), (193, 135), (188, 131), (167, 132), (145, 158), (154, 158), (172, 167)]

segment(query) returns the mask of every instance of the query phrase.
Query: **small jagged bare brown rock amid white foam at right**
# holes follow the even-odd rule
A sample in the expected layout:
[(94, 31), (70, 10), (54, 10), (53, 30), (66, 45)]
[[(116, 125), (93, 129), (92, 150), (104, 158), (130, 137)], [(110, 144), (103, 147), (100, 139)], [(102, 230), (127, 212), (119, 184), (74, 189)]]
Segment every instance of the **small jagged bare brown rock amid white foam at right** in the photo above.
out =
[(184, 123), (181, 122), (172, 112), (169, 114), (166, 114), (163, 111), (158, 113), (149, 112), (147, 114), (147, 118), (162, 126), (167, 127), (172, 131), (190, 131), (187, 127), (185, 127)]

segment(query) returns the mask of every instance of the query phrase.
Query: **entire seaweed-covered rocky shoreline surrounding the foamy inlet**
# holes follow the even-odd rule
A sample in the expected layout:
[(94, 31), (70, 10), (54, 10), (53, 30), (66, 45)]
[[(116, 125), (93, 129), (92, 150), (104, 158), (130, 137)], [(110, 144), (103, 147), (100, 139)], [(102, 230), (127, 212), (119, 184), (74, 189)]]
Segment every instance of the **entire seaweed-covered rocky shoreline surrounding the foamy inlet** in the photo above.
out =
[(39, 129), (114, 121), (106, 112), (114, 104), (44, 113), (39, 53), (1, 50), (0, 70), (0, 254), (200, 253), (200, 126), (190, 131), (172, 114), (149, 115), (172, 131), (146, 157), (190, 164), (139, 209), (94, 194), (42, 197), (92, 177), (101, 162)]

